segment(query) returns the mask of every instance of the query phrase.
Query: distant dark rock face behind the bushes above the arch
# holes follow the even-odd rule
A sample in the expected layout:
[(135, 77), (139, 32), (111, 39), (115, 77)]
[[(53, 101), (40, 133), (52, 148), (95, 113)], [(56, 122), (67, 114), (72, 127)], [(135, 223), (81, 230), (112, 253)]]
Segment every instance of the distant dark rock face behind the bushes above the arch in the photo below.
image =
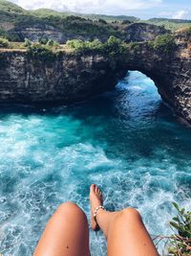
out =
[(154, 40), (158, 35), (169, 34), (163, 27), (148, 23), (133, 23), (124, 29), (126, 42), (141, 42)]

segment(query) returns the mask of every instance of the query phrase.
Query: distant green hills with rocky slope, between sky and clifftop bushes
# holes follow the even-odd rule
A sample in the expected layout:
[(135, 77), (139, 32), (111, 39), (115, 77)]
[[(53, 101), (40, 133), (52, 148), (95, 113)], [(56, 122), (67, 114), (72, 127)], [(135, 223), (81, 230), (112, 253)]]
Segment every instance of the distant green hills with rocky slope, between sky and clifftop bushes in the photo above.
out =
[[(143, 22), (171, 31), (191, 25), (191, 21), (165, 18), (153, 18)], [(142, 21), (138, 17), (126, 15), (56, 12), (50, 9), (27, 11), (9, 1), (0, 0), (0, 36), (12, 41), (24, 41), (25, 37), (37, 40), (47, 36), (59, 42), (74, 38), (84, 40), (98, 38), (105, 41), (110, 35), (125, 40), (129, 31), (127, 27), (132, 23), (142, 23)], [(145, 37), (148, 30), (163, 33), (163, 28), (158, 30), (155, 27), (144, 27)]]

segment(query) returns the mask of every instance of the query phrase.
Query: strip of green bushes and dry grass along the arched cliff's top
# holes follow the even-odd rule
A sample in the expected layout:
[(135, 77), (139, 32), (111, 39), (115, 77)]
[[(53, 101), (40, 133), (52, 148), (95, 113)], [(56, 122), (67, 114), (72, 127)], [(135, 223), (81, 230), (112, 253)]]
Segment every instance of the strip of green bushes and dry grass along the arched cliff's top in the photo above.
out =
[[(190, 29), (191, 30), (191, 29)], [(190, 31), (189, 30), (189, 31)], [(175, 49), (176, 42), (173, 35), (159, 35), (155, 40), (147, 42), (149, 47), (152, 47), (155, 50), (162, 51), (163, 53), (168, 53)], [(121, 39), (111, 35), (106, 42), (101, 42), (98, 39), (88, 41), (73, 39), (68, 40), (66, 44), (59, 44), (52, 39), (42, 38), (37, 42), (32, 42), (29, 39), (25, 39), (24, 43), (20, 42), (9, 42), (5, 38), (0, 37), (0, 50), (1, 48), (12, 49), (12, 50), (27, 50), (31, 52), (34, 56), (37, 56), (38, 53), (41, 53), (43, 50), (46, 52), (52, 51), (53, 53), (57, 52), (75, 52), (75, 53), (100, 53), (100, 54), (109, 54), (110, 56), (115, 56), (117, 54), (126, 53), (128, 50), (134, 50), (138, 52), (139, 45), (138, 42), (125, 43)]]

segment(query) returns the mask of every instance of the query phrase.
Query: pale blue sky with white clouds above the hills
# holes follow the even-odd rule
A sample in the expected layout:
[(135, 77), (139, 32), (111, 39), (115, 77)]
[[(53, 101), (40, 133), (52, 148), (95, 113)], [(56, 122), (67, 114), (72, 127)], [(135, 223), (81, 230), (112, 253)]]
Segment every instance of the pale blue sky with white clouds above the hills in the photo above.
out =
[(191, 0), (11, 0), (24, 9), (191, 19)]

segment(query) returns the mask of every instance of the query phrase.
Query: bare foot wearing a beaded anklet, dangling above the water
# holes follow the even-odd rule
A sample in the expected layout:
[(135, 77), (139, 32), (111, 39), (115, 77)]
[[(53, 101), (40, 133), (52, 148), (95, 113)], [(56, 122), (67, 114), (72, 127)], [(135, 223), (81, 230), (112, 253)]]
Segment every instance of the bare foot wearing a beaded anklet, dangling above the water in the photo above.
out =
[(101, 191), (95, 184), (92, 184), (90, 186), (90, 203), (91, 203), (91, 212), (92, 212), (91, 225), (92, 225), (92, 229), (97, 231), (97, 230), (99, 230), (99, 226), (94, 217), (94, 213), (95, 213), (96, 207), (98, 207), (99, 205), (102, 205), (103, 198), (102, 198)]

